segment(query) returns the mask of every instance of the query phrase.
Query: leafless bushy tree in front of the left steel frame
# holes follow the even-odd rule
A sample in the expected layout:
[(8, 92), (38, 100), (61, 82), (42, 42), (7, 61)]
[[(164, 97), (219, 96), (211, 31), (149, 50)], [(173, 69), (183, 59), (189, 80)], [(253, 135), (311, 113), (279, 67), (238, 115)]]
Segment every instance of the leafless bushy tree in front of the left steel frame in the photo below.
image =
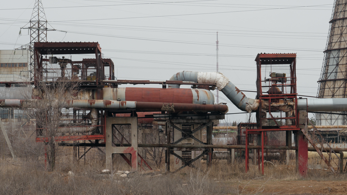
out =
[[(58, 145), (54, 137), (69, 130), (69, 111), (66, 100), (76, 99), (78, 82), (69, 79), (47, 83), (39, 83), (33, 89), (34, 100), (25, 101), (23, 107), (28, 117), (35, 119), (36, 136), (44, 139), (45, 159), (48, 170), (53, 171), (56, 162)], [(27, 98), (31, 99), (31, 98)], [(65, 119), (65, 120), (64, 120)], [(64, 127), (64, 128), (62, 128)]]

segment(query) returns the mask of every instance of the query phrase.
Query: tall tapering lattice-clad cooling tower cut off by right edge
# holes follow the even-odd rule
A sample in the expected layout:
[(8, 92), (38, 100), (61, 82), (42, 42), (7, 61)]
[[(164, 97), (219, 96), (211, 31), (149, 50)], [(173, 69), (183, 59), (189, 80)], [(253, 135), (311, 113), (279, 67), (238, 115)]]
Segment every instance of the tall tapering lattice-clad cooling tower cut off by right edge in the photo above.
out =
[[(317, 96), (346, 98), (347, 0), (335, 0)], [(344, 112), (345, 113), (345, 112)], [(316, 114), (317, 125), (347, 125), (346, 116)]]

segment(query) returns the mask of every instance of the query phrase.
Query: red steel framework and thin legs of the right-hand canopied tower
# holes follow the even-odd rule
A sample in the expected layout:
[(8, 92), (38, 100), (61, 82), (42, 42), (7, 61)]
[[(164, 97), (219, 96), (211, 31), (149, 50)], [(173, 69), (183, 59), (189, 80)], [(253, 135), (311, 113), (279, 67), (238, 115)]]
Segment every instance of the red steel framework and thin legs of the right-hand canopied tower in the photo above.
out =
[[(258, 141), (257, 144), (261, 145), (261, 164), (262, 164), (262, 174), (264, 174), (264, 145), (267, 143), (267, 141), (264, 139), (266, 136), (266, 132), (268, 131), (287, 131), (287, 136), (291, 136), (291, 131), (298, 131), (299, 128), (299, 115), (297, 108), (297, 93), (296, 93), (296, 54), (295, 53), (276, 53), (276, 54), (265, 54), (260, 53), (257, 55), (256, 59), (257, 64), (257, 99), (259, 99), (259, 107), (256, 111), (256, 119), (257, 119), (257, 128), (256, 129), (246, 129), (246, 172), (249, 169), (249, 151), (248, 151), (248, 145), (249, 145), (249, 134), (256, 134)], [(289, 77), (283, 76), (283, 77), (270, 77), (269, 79), (262, 79), (262, 65), (269, 66), (270, 68), (272, 65), (282, 65), (287, 66), (289, 68), (290, 75)], [(272, 69), (270, 69), (272, 70)], [(266, 73), (265, 73), (266, 74)], [(266, 77), (266, 75), (265, 75)], [(286, 80), (286, 82), (283, 83), (277, 83), (280, 79)], [(287, 84), (287, 82), (290, 80), (290, 83)], [(266, 85), (266, 82), (269, 82), (269, 85)], [(271, 87), (278, 87), (278, 89), (281, 89), (281, 92), (275, 93), (275, 91), (271, 91)], [(269, 88), (268, 94), (265, 94), (263, 92), (263, 88)], [(288, 90), (287, 90), (288, 88)], [(281, 103), (285, 102), (287, 100), (291, 100), (294, 102), (294, 107), (292, 109), (286, 109), (291, 110), (294, 112), (294, 116), (282, 116), (284, 113), (283, 110), (279, 109), (279, 107), (272, 107), (271, 104), (273, 103)], [(264, 105), (268, 104), (268, 105)], [(262, 116), (264, 112), (268, 112), (265, 116)], [(272, 113), (279, 113), (280, 116), (274, 117)], [(269, 117), (267, 117), (269, 115)], [(291, 120), (292, 124), (288, 125), (282, 125), (278, 124), (278, 120), (287, 121)], [(275, 126), (264, 126), (263, 120), (273, 120), (276, 124)], [(304, 139), (304, 137), (302, 137)], [(300, 142), (300, 139), (299, 139)], [(287, 143), (290, 144), (291, 143)], [(306, 144), (307, 145), (307, 144)], [(299, 150), (300, 152), (300, 150)], [(259, 164), (259, 170), (260, 170), (260, 151), (258, 149), (258, 164)], [(306, 150), (307, 155), (307, 150)], [(307, 164), (307, 162), (306, 162)]]

